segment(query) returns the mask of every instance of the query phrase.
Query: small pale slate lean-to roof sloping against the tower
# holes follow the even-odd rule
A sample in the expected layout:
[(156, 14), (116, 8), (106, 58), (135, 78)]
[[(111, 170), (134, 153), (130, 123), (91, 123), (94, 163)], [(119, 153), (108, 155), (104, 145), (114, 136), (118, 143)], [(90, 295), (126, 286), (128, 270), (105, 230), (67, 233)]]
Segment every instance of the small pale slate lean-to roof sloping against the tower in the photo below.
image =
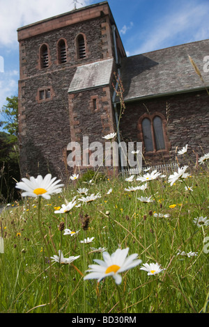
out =
[(113, 58), (110, 58), (78, 66), (68, 93), (109, 85), (113, 63)]

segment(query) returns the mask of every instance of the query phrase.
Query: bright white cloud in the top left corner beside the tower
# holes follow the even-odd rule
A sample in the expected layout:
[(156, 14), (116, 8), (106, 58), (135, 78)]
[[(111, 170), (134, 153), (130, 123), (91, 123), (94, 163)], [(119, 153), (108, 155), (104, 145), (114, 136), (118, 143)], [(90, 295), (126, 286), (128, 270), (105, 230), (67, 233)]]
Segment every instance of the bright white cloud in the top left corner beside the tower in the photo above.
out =
[[(82, 2), (82, 3), (81, 3)], [(77, 8), (87, 6), (89, 0), (77, 2)], [(0, 0), (0, 47), (17, 46), (17, 29), (41, 19), (68, 12), (73, 0)]]

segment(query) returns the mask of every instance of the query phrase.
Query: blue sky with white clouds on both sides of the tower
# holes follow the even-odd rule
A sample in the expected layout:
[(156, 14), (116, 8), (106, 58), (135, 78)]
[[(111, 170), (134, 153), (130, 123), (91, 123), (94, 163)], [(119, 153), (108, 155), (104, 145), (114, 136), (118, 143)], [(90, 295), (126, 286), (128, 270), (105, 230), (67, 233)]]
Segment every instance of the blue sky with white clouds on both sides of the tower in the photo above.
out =
[[(77, 2), (80, 8), (101, 1)], [(208, 0), (108, 2), (127, 56), (209, 38)], [(0, 109), (18, 92), (17, 28), (73, 8), (73, 0), (0, 0)]]

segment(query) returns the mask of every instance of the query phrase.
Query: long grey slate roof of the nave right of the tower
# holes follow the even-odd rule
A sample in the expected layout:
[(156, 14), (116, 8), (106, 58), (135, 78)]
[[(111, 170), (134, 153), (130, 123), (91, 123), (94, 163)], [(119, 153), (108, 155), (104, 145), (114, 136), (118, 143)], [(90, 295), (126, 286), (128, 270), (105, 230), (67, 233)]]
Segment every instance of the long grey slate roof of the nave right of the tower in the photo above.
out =
[(122, 58), (124, 99), (168, 95), (203, 88), (188, 55), (209, 86), (209, 72), (203, 72), (203, 58), (209, 56), (209, 40), (203, 40)]

